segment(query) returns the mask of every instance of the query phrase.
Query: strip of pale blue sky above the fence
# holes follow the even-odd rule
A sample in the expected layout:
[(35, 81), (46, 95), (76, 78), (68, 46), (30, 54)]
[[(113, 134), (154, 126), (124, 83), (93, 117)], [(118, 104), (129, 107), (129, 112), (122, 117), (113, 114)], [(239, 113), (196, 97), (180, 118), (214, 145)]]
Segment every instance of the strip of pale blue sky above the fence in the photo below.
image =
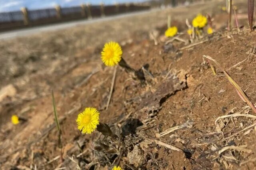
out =
[(54, 7), (59, 4), (62, 7), (78, 6), (82, 3), (90, 4), (114, 4), (115, 2), (142, 2), (145, 0), (0, 0), (0, 12), (20, 10), (21, 7), (28, 9), (42, 9)]

